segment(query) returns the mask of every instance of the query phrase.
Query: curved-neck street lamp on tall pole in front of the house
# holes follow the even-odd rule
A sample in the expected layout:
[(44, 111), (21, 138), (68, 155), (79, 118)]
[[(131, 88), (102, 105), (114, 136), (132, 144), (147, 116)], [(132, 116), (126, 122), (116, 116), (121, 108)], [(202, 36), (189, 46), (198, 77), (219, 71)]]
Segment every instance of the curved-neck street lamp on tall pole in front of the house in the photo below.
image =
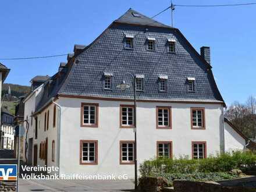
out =
[(129, 88), (129, 84), (126, 84), (124, 77), (129, 74), (131, 76), (131, 78), (133, 79), (133, 93), (134, 93), (134, 115), (133, 115), (133, 119), (134, 119), (134, 185), (135, 185), (135, 189), (137, 189), (138, 186), (138, 175), (137, 175), (137, 135), (136, 135), (136, 76), (134, 76), (131, 73), (125, 73), (123, 75), (123, 81), (122, 83), (120, 83), (118, 86), (116, 86), (117, 88), (120, 88), (120, 90), (124, 91), (127, 88)]

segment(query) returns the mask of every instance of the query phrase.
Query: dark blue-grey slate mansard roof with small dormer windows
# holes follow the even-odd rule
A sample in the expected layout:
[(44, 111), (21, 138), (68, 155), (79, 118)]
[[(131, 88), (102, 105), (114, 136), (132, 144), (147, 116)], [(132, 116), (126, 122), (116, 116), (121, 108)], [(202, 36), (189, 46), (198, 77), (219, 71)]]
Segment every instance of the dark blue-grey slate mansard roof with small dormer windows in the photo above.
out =
[[(133, 13), (141, 17), (134, 17)], [(134, 36), (134, 48), (131, 50), (124, 48), (125, 35)], [(148, 37), (155, 38), (155, 51), (147, 50)], [(167, 41), (170, 38), (176, 40), (176, 53), (168, 52)], [(65, 71), (61, 70), (62, 78), (54, 83), (50, 89), (52, 93), (44, 94), (37, 110), (57, 95), (132, 98), (131, 88), (126, 91), (116, 88), (127, 72), (144, 74), (144, 91), (137, 93), (138, 99), (223, 102), (211, 65), (195, 51), (182, 33), (132, 9), (115, 20), (79, 54), (74, 54), (65, 68)], [(113, 74), (112, 90), (104, 90), (104, 72)], [(168, 76), (166, 93), (158, 91), (159, 75)], [(59, 75), (53, 77), (50, 79), (56, 81)], [(187, 91), (187, 77), (195, 78), (193, 93)], [(131, 83), (128, 77), (126, 81)]]

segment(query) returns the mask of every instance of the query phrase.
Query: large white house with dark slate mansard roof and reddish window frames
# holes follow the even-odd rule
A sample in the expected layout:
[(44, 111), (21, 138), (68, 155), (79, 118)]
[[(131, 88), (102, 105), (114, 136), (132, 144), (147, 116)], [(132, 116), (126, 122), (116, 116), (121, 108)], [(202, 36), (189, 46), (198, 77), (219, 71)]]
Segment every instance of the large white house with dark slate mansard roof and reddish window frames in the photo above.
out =
[(207, 158), (225, 145), (243, 149), (236, 132), (225, 136), (209, 48), (199, 55), (177, 29), (144, 21), (152, 22), (129, 9), (88, 47), (75, 45), (67, 63), (24, 99), (33, 165), (133, 178), (133, 91), (116, 88), (132, 83), (126, 72), (136, 77), (137, 165), (156, 157)]

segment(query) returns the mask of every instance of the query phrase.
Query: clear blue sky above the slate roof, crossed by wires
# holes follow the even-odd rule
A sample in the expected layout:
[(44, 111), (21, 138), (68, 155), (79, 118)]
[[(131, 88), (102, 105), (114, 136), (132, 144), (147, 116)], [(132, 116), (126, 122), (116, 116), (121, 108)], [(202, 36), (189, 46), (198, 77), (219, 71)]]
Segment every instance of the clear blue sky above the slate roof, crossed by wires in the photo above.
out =
[[(189, 1), (175, 4), (248, 3), (252, 1)], [(74, 44), (90, 44), (108, 25), (133, 8), (153, 16), (167, 8), (166, 1), (153, 0), (1, 0), (0, 58), (66, 54)], [(176, 7), (174, 27), (200, 50), (211, 47), (211, 65), (227, 105), (256, 96), (256, 5), (218, 8)], [(170, 10), (155, 17), (170, 24)], [(4, 61), (11, 71), (5, 83), (29, 85), (37, 74), (52, 75), (66, 56), (48, 59)]]

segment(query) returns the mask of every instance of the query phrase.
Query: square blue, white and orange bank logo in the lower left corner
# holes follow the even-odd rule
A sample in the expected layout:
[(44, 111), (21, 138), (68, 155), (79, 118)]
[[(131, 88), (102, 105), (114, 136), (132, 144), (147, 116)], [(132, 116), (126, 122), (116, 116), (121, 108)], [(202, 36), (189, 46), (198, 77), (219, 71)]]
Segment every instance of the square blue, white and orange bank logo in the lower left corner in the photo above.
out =
[(17, 180), (17, 165), (0, 164), (0, 181)]

